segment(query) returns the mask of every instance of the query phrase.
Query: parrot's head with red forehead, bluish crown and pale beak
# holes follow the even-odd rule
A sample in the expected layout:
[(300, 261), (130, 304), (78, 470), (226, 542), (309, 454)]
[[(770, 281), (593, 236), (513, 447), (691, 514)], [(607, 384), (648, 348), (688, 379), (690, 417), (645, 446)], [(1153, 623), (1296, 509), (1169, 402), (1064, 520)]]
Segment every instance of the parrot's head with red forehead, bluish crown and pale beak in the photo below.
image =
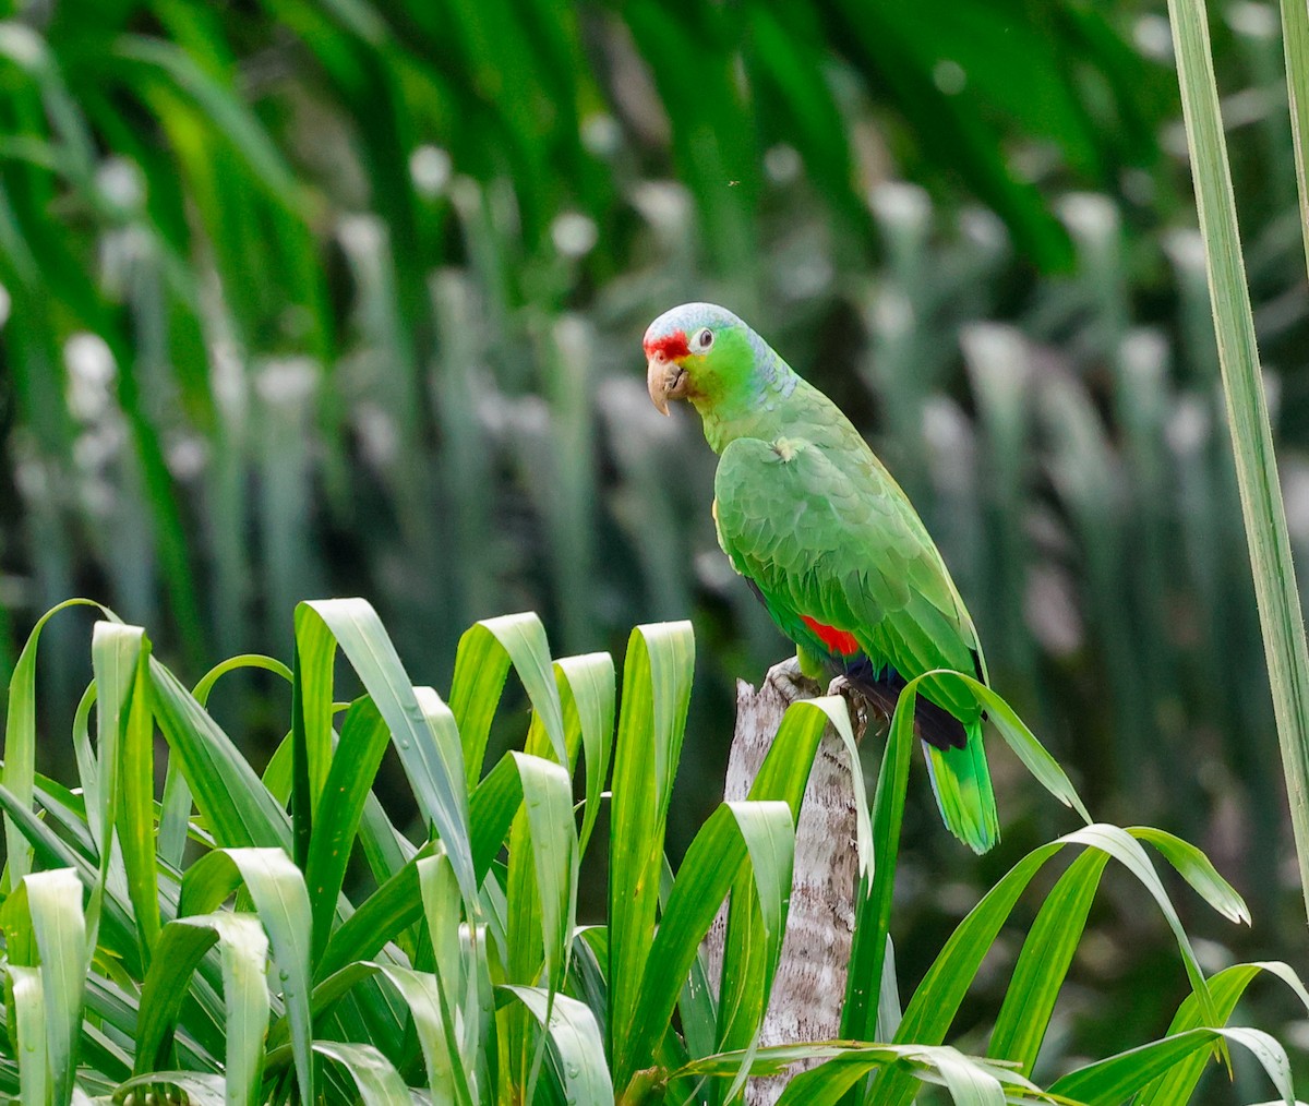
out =
[(763, 346), (726, 308), (682, 304), (649, 325), (645, 386), (668, 414), (669, 399), (689, 399), (706, 412), (751, 391), (755, 346)]

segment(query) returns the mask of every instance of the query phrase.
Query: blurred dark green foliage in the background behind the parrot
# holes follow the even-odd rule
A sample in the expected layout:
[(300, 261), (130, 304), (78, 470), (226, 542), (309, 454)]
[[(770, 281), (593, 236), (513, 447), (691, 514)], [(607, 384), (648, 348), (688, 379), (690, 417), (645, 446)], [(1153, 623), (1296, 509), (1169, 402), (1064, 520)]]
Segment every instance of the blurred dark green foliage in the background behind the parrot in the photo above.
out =
[[(1092, 812), (1198, 842), (1249, 897), (1236, 931), (1174, 887), (1207, 966), (1309, 967), (1162, 4), (4, 8), (4, 681), (75, 594), (145, 624), (191, 681), (238, 652), (289, 660), (305, 597), (369, 598), (439, 688), (482, 616), (535, 609), (556, 654), (619, 657), (635, 623), (690, 616), (685, 846), (721, 794), (733, 681), (787, 653), (715, 543), (698, 420), (644, 393), (645, 325), (708, 298), (867, 432), (995, 686)], [(1216, 3), (1212, 33), (1309, 554), (1278, 10)], [(86, 624), (42, 644), (52, 775)], [(254, 678), (216, 700), (257, 763), (285, 709)], [(980, 861), (912, 780), (903, 980), (1073, 827), (992, 760), (1005, 840)], [(1106, 880), (1052, 1063), (1158, 1035), (1186, 993), (1143, 899)], [(965, 1044), (984, 1047), (1020, 941)], [(1250, 1001), (1251, 1024), (1309, 1041), (1285, 996)]]

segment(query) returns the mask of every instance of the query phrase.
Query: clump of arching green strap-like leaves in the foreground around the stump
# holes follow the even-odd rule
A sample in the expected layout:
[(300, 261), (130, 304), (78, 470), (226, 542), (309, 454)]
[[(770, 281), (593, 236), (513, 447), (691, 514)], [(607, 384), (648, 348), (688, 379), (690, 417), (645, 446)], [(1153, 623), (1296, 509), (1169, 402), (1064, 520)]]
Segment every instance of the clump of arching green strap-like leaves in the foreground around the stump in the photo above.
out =
[[(759, 1047), (795, 823), (823, 730), (836, 726), (857, 757), (840, 699), (789, 709), (749, 798), (723, 804), (672, 874), (664, 842), (691, 692), (687, 623), (632, 632), (619, 711), (613, 660), (555, 660), (531, 614), (469, 630), (444, 699), (412, 685), (361, 599), (300, 605), (289, 666), (236, 657), (194, 690), (151, 654), (141, 628), (101, 614), (94, 682), (73, 726), (76, 788), (34, 770), (45, 619), (10, 685), (0, 1092), (24, 1102), (716, 1103), (750, 1075), (817, 1059), (784, 1102), (908, 1103), (925, 1081), (961, 1103), (1175, 1103), (1215, 1044), (1232, 1043), (1295, 1101), (1282, 1046), (1227, 1022), (1259, 974), (1283, 978), (1306, 1008), (1309, 995), (1284, 965), (1206, 978), (1147, 849), (1233, 921), (1247, 920), (1240, 895), (1178, 838), (1092, 822), (1054, 759), (980, 686), (999, 733), (1086, 825), (1018, 860), (902, 1010), (885, 953), (914, 743), (907, 687), (860, 832), (850, 1039)], [(339, 656), (363, 686), (352, 702), (336, 698)], [(291, 686), (288, 733), (262, 775), (206, 709), (216, 682), (243, 666)], [(511, 669), (530, 721), (521, 747), (487, 763)], [(416, 831), (402, 831), (373, 791), (387, 750), (408, 780)], [(606, 785), (607, 840), (594, 832)], [(975, 1050), (986, 1055), (966, 1055), (946, 1043), (961, 1003), (1033, 878), (1068, 847), (1077, 856), (1022, 942), (990, 1043)], [(607, 918), (583, 924), (581, 864), (605, 848)], [(1172, 927), (1190, 991), (1160, 1039), (1041, 1072), (1110, 861)], [(700, 941), (729, 895), (723, 976), (708, 980)]]

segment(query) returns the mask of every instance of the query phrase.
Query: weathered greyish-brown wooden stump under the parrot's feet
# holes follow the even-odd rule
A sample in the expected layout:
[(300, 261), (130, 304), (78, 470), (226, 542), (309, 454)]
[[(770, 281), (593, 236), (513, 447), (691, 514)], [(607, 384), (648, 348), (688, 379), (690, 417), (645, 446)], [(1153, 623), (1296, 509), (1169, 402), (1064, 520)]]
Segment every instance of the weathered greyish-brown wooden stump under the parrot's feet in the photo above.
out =
[[(844, 681), (833, 681), (831, 694), (842, 694)], [(787, 707), (813, 699), (822, 688), (802, 677), (795, 660), (768, 669), (755, 691), (737, 681), (737, 721), (728, 757), (725, 800), (745, 798), (781, 725)], [(847, 700), (848, 702), (848, 700)], [(857, 720), (857, 712), (852, 712)], [(856, 734), (859, 728), (856, 725)], [(856, 853), (855, 789), (850, 757), (831, 726), (822, 736), (805, 788), (796, 827), (796, 864), (791, 912), (781, 946), (781, 962), (761, 1034), (762, 1044), (830, 1041), (840, 1035), (846, 997), (846, 969), (855, 929)], [(717, 988), (723, 969), (726, 907), (704, 938), (709, 984)], [(788, 1075), (754, 1079), (746, 1088), (750, 1106), (771, 1106)]]

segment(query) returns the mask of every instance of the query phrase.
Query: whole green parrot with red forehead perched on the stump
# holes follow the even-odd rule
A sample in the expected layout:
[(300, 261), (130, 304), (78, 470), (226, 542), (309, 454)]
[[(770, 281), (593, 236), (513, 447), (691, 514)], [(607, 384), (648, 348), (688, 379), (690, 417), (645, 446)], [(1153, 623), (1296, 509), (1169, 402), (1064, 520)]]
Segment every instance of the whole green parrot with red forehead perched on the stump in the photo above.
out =
[[(719, 454), (713, 520), (733, 568), (796, 645), (801, 671), (844, 674), (894, 704), (953, 669), (987, 682), (977, 630), (908, 497), (835, 403), (740, 318), (683, 304), (644, 339), (651, 401), (687, 399)], [(919, 685), (915, 730), (950, 831), (999, 840), (983, 713), (957, 681)]]

